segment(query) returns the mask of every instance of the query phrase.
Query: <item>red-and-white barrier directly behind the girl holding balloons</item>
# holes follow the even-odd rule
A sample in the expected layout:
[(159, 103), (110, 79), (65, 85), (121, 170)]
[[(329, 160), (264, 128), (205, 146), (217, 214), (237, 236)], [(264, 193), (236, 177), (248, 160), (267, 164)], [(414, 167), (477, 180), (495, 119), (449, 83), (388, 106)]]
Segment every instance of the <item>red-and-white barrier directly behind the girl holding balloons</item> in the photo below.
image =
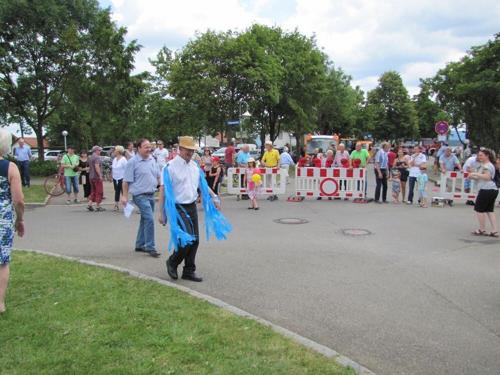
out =
[[(286, 171), (281, 168), (264, 168), (259, 166), (260, 180), (262, 193), (278, 195), (286, 192)], [(246, 194), (246, 189), (241, 187), (242, 176), (245, 174), (246, 168), (227, 168), (227, 192), (236, 194), (239, 200), (239, 195)], [(279, 175), (279, 181), (276, 177)]]

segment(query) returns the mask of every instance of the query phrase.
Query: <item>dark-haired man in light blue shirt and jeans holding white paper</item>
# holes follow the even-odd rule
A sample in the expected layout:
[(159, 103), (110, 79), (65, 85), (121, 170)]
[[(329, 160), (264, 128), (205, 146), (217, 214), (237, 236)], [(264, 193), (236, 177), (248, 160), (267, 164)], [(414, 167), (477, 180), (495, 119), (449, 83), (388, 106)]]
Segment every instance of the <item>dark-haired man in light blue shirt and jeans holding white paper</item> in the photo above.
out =
[(128, 191), (140, 210), (139, 229), (135, 239), (135, 251), (147, 252), (151, 256), (160, 253), (154, 247), (154, 192), (159, 185), (160, 171), (151, 156), (151, 143), (147, 139), (137, 142), (137, 154), (128, 160), (123, 174), (123, 205)]

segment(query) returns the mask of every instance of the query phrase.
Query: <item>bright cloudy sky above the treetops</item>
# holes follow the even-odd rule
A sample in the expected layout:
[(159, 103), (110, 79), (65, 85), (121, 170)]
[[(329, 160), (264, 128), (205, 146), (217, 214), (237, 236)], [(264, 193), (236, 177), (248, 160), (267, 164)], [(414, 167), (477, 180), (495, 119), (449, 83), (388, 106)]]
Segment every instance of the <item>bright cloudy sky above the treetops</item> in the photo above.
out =
[(471, 45), (500, 31), (498, 0), (100, 0), (144, 48), (136, 71), (151, 70), (165, 44), (181, 48), (194, 32), (243, 30), (254, 22), (295, 27), (317, 44), (364, 91), (386, 70), (401, 73), (409, 93)]

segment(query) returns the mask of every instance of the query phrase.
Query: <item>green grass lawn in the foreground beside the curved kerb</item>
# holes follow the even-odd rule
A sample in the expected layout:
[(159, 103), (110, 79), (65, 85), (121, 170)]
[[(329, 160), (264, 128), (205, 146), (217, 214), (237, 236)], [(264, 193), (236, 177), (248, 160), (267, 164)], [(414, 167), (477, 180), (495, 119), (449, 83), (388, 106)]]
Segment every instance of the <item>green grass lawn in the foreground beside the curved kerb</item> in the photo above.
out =
[(128, 274), (14, 251), (8, 374), (350, 374), (253, 320)]

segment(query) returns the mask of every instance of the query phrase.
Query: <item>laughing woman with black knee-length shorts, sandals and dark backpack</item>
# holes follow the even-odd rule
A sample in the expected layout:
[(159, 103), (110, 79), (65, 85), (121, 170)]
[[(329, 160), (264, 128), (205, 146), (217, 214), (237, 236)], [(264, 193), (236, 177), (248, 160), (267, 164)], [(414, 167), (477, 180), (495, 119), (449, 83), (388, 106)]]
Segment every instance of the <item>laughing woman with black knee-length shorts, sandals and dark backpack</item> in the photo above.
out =
[[(482, 166), (478, 169), (477, 172), (468, 174), (468, 178), (478, 180), (477, 187), (479, 188), (474, 203), (474, 211), (476, 212), (477, 220), (479, 221), (479, 229), (472, 231), (471, 234), (490, 235), (491, 237), (498, 237), (496, 216), (493, 213), (496, 196), (498, 195), (498, 187), (496, 187), (496, 184), (493, 180), (496, 166), (492, 163), (493, 155), (488, 149), (483, 149), (477, 152), (477, 157), (482, 163)], [(486, 217), (484, 213), (488, 215), (489, 222), (491, 223), (492, 231), (489, 234), (486, 234)]]

